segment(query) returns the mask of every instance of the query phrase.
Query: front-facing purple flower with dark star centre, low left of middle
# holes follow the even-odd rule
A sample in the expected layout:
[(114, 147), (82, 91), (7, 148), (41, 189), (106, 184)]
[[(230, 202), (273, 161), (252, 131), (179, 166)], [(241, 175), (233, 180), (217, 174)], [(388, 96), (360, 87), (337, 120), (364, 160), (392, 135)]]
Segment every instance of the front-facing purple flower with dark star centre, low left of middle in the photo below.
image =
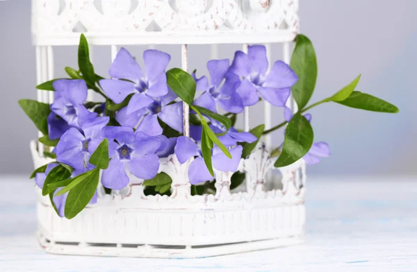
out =
[[(161, 141), (142, 132), (133, 132), (125, 126), (108, 126), (104, 135), (109, 139), (111, 161), (103, 171), (101, 183), (110, 189), (120, 190), (129, 184), (126, 167), (137, 178), (154, 178), (159, 169), (156, 151)], [(115, 141), (113, 141), (115, 140)]]

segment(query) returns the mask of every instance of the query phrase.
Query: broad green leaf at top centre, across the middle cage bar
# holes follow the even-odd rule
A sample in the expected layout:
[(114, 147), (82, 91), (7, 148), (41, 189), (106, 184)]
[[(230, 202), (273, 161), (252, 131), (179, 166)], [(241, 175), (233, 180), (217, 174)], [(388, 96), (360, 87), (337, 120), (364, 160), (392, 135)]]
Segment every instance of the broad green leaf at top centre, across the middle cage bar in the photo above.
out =
[(173, 68), (167, 71), (167, 84), (182, 101), (191, 105), (195, 96), (195, 80), (186, 71)]

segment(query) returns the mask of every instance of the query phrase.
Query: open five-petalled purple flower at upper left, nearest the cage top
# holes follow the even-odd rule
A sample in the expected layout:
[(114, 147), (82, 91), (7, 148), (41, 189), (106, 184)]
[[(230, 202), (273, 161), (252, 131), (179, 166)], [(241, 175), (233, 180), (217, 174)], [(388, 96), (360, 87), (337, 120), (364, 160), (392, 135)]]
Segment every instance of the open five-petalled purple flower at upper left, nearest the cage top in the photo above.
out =
[(100, 80), (100, 85), (115, 103), (122, 103), (126, 96), (133, 94), (126, 109), (126, 114), (131, 114), (153, 103), (152, 98), (159, 98), (168, 93), (165, 68), (170, 59), (170, 55), (161, 51), (145, 51), (144, 74), (138, 62), (122, 48), (108, 71), (113, 79)]

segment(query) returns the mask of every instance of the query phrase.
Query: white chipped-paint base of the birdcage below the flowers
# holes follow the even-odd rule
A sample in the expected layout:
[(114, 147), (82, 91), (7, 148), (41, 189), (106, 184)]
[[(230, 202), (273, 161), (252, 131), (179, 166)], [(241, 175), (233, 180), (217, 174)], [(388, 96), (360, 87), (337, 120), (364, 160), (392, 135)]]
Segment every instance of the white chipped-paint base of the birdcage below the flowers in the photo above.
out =
[[(39, 157), (34, 142), (32, 147), (35, 167), (47, 163)], [(304, 188), (265, 192), (264, 169), (270, 160), (264, 144), (260, 143), (240, 167), (249, 176), (248, 183), (255, 186), (254, 191), (231, 194), (232, 173), (216, 172), (216, 195), (191, 196), (190, 162), (180, 164), (170, 155), (161, 163), (160, 170), (173, 180), (171, 196), (145, 196), (142, 180), (133, 180), (126, 192), (99, 194), (97, 204), (88, 205), (72, 220), (57, 216), (49, 198), (38, 189), (40, 244), (48, 252), (60, 254), (202, 257), (302, 242)]]

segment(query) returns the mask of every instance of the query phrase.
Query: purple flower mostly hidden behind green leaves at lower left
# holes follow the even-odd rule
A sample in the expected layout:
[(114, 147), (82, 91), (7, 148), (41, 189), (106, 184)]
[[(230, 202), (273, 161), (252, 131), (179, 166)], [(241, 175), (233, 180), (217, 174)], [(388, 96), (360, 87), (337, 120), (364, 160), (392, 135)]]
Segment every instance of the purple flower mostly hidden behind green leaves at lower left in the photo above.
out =
[[(35, 176), (35, 182), (36, 185), (38, 185), (38, 187), (40, 187), (40, 189), (43, 188), (44, 185), (44, 181), (45, 178), (47, 178), (48, 173), (54, 169), (55, 167), (58, 166), (58, 163), (50, 163), (47, 166), (47, 169), (45, 170), (44, 173), (37, 173)], [(85, 171), (88, 171), (89, 169), (85, 169)], [(72, 173), (71, 178), (74, 178), (75, 176), (78, 176), (79, 174), (83, 173), (84, 171), (77, 171), (74, 170), (74, 172)], [(67, 201), (67, 196), (68, 193), (65, 193), (61, 196), (55, 196), (56, 193), (58, 193), (61, 189), (63, 189), (63, 187), (60, 187), (58, 189), (56, 189), (56, 191), (54, 192), (54, 196), (52, 197), (52, 201), (54, 202), (54, 205), (56, 207), (56, 210), (58, 210), (58, 215), (60, 217), (64, 217), (65, 216), (65, 202)], [(90, 204), (95, 204), (97, 203), (97, 192), (95, 192), (94, 196), (92, 197)]]

